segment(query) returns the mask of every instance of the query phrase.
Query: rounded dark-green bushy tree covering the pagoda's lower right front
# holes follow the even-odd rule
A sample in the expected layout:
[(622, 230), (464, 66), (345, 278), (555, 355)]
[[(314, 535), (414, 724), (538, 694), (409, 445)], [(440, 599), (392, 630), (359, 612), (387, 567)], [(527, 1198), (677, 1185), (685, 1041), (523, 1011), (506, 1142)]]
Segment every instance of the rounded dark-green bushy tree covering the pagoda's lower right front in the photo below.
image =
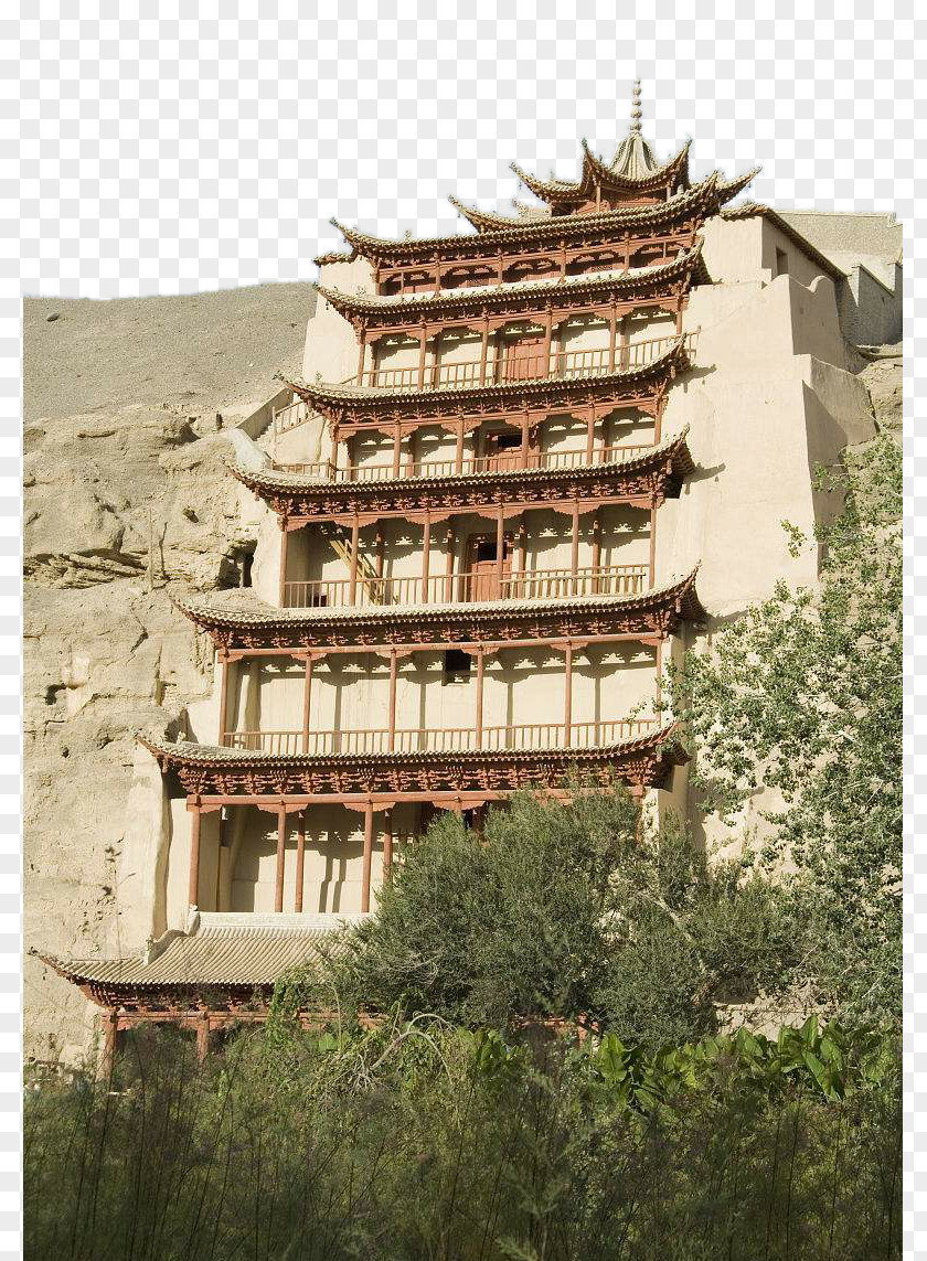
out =
[(709, 866), (679, 827), (637, 830), (619, 787), (520, 794), (483, 837), (441, 817), (322, 975), (289, 980), (290, 1008), (584, 1019), (651, 1048), (711, 1031), (719, 999), (792, 966), (793, 924), (774, 888)]

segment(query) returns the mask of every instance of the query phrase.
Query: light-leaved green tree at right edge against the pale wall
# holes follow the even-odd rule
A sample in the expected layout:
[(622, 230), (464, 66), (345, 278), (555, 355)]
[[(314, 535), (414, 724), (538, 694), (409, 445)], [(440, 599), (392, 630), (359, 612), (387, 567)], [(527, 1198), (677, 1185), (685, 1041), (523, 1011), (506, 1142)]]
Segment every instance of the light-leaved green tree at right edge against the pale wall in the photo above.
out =
[[(764, 855), (805, 926), (806, 976), (854, 1018), (901, 1010), (901, 451), (885, 435), (820, 473), (845, 496), (817, 532), (820, 591), (776, 588), (687, 654), (675, 705), (696, 783), (728, 818), (777, 791)], [(793, 531), (793, 546), (808, 546)], [(813, 543), (811, 546), (815, 546)]]

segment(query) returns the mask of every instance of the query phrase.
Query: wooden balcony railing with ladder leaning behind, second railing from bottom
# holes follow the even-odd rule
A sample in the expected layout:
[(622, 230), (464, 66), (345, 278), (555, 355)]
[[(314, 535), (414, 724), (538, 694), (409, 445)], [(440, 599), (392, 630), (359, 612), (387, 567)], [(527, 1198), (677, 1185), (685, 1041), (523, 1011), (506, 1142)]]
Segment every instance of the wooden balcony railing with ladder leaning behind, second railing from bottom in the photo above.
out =
[(590, 595), (639, 595), (647, 565), (498, 572), (493, 567), (429, 578), (320, 579), (284, 584), (284, 608), (344, 609), (370, 605), (472, 604), (483, 600), (566, 600)]

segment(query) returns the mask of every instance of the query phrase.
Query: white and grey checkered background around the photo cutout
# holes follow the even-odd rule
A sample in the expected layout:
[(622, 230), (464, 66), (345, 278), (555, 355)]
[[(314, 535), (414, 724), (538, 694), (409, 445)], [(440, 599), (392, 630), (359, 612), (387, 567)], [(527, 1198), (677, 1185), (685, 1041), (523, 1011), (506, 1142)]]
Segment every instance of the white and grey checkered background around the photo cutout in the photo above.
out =
[[(339, 243), (332, 216), (385, 236), (457, 231), (446, 195), (504, 208), (518, 195), (511, 160), (573, 177), (583, 136), (610, 158), (637, 77), (644, 135), (661, 155), (691, 135), (696, 177), (762, 163), (757, 199), (893, 209), (907, 228), (908, 291), (924, 271), (914, 119), (927, 23), (914, 20), (909, 0), (858, 4), (855, 13), (817, 0), (773, 4), (762, 18), (732, 0), (656, 0), (646, 18), (627, 20), (613, 16), (613, 4), (563, 0), (335, 3), (324, 16), (314, 8), (271, 0), (260, 11), (240, 4), (236, 14), (216, 3), (38, 0), (0, 16), (0, 873), (11, 873), (0, 894), (0, 1091), (9, 1105), (0, 1116), (0, 1255), (19, 1247), (20, 295), (313, 279), (312, 257)], [(908, 407), (927, 318), (919, 330), (918, 339), (908, 314)], [(913, 474), (927, 469), (927, 441), (918, 446), (908, 431), (904, 450), (916, 513)], [(909, 653), (921, 629), (914, 595), (927, 591), (926, 535), (909, 516)], [(924, 696), (927, 683), (912, 675), (906, 783), (914, 832), (927, 812), (927, 783), (912, 760), (927, 735)], [(927, 967), (916, 955), (927, 900), (913, 886), (923, 863), (912, 844), (909, 1034), (927, 1029)], [(923, 1105), (917, 1067), (909, 1042), (914, 1108)], [(906, 1137), (909, 1174), (927, 1169), (927, 1106), (918, 1112)], [(917, 1212), (911, 1184), (907, 1195), (907, 1245), (927, 1256), (927, 1213)]]

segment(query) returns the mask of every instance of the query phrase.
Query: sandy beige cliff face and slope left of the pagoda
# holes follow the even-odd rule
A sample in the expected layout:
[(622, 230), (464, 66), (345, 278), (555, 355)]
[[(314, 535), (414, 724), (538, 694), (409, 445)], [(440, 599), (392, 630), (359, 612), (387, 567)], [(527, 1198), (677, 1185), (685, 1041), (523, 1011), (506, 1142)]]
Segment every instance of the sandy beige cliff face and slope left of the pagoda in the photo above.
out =
[[(166, 586), (238, 585), (254, 502), (233, 426), (298, 372), (309, 285), (111, 303), (26, 300), (25, 946), (119, 951), (119, 870), (140, 726), (212, 689)], [(25, 1053), (90, 1040), (77, 991), (26, 958)]]

